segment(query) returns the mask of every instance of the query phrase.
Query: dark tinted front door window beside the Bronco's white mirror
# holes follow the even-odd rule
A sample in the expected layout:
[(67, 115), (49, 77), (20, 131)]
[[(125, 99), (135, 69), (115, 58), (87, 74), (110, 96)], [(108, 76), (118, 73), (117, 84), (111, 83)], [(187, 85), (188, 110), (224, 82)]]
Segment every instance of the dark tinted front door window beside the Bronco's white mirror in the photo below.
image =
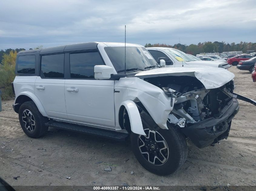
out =
[(71, 78), (94, 78), (94, 66), (104, 65), (98, 52), (70, 54)]

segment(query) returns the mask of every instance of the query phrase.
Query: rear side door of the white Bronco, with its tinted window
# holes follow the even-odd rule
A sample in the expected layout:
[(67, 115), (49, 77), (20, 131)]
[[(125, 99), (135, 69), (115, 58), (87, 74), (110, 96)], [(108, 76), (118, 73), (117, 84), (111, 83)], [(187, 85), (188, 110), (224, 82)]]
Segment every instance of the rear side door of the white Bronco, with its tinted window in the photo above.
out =
[(49, 117), (67, 119), (64, 94), (64, 54), (42, 55), (40, 76), (35, 81), (35, 95)]

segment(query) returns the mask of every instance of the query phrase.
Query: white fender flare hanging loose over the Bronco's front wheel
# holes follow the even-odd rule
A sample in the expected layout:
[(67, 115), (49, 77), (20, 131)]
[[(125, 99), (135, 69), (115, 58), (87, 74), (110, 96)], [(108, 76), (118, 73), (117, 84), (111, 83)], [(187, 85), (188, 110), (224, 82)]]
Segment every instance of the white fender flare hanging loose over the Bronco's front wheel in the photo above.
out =
[(126, 100), (122, 102), (121, 105), (123, 105), (128, 112), (131, 131), (139, 135), (146, 135), (143, 130), (141, 116), (136, 104), (132, 100)]

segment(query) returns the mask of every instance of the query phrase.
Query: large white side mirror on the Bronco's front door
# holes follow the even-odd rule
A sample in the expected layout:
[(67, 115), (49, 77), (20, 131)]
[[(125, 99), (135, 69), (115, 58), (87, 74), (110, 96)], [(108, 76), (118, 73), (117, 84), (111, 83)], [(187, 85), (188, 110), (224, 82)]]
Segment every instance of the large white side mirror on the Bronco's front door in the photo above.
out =
[(114, 70), (110, 66), (96, 65), (94, 66), (94, 78), (97, 80), (109, 79)]

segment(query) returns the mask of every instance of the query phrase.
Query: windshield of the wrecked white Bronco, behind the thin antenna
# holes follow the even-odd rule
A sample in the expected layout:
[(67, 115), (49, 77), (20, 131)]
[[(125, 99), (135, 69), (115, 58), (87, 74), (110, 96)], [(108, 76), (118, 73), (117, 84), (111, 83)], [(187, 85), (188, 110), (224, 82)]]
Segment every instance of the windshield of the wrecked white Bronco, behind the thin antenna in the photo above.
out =
[[(137, 72), (140, 70), (150, 70), (156, 68), (158, 64), (155, 59), (148, 53), (144, 47), (126, 47), (126, 59), (125, 59), (125, 47), (105, 47), (104, 48), (110, 61), (112, 62), (115, 70), (118, 74), (124, 73), (125, 62), (126, 69), (138, 68), (138, 70), (126, 71), (126, 73)], [(126, 61), (125, 61), (126, 60)], [(155, 66), (155, 67), (149, 67)], [(146, 68), (149, 67), (149, 68)], [(118, 72), (120, 71), (120, 72)]]

